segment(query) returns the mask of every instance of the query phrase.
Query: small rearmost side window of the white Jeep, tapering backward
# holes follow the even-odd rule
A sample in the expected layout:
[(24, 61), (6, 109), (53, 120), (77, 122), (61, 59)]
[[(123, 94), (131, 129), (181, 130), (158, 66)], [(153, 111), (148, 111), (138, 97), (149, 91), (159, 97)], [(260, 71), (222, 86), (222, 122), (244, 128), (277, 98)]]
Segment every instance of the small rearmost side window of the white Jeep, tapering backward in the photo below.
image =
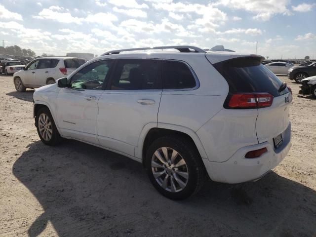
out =
[(162, 61), (162, 88), (186, 89), (194, 88), (196, 80), (189, 67), (179, 61)]

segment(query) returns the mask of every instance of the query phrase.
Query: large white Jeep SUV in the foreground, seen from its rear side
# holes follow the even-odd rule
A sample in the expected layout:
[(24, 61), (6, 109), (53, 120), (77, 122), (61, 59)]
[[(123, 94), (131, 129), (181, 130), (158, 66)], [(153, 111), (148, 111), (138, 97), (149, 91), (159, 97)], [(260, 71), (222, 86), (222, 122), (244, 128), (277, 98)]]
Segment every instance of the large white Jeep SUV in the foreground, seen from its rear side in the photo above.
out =
[(196, 193), (207, 174), (257, 180), (286, 156), (292, 94), (263, 57), (156, 48), (180, 52), (111, 51), (37, 89), (41, 141), (75, 139), (142, 162), (171, 199)]

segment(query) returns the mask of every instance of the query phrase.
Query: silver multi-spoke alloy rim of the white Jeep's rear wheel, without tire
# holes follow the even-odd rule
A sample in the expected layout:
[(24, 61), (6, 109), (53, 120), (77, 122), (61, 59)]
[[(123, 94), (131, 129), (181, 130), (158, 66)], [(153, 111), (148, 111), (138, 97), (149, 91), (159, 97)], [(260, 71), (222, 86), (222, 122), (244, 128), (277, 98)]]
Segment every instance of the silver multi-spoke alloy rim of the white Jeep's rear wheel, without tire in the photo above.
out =
[(188, 166), (182, 156), (174, 149), (161, 147), (152, 157), (152, 172), (161, 188), (176, 193), (188, 184)]

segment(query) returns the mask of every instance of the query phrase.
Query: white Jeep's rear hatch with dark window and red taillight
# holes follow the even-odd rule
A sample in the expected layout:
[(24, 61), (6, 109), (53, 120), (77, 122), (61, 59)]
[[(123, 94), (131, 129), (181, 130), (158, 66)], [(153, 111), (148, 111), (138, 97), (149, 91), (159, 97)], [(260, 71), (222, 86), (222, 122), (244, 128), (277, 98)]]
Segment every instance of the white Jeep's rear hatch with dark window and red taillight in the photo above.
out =
[[(224, 107), (226, 109), (257, 109), (258, 143), (268, 141), (274, 144), (280, 142), (280, 136), (283, 140), (287, 137), (285, 130), (289, 127), (289, 104), (292, 101), (292, 94), (286, 83), (261, 64), (262, 60), (261, 56), (251, 55), (218, 62), (213, 66), (229, 84), (230, 90)], [(240, 95), (246, 95), (243, 97), (243, 103), (240, 107), (232, 107), (234, 106), (233, 97), (240, 98)], [(254, 99), (251, 98), (252, 95)], [(275, 145), (278, 147), (277, 144)]]

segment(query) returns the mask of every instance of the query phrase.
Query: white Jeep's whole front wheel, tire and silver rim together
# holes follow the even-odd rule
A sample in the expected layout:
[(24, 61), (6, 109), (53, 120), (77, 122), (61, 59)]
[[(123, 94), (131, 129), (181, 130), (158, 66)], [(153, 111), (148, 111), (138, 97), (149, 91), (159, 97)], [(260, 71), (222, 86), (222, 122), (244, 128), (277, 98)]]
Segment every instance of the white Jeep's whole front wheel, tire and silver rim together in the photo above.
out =
[(41, 108), (38, 111), (35, 118), (35, 125), (38, 130), (40, 140), (44, 144), (54, 146), (61, 141), (61, 136), (47, 107)]

